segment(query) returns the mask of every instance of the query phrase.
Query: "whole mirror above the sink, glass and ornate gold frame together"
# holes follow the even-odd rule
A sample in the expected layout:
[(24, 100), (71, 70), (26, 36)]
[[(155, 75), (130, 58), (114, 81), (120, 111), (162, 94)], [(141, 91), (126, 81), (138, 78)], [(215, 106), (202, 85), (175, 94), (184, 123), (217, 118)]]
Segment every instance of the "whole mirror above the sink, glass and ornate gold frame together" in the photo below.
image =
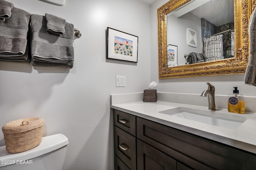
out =
[[(201, 18), (202, 16), (196, 16), (197, 13), (195, 11), (198, 10), (198, 8), (201, 8), (202, 10), (202, 6), (214, 1), (217, 0), (170, 0), (158, 8), (159, 78), (208, 76), (245, 72), (249, 56), (248, 25), (250, 15), (255, 7), (255, 2), (253, 0), (234, 0), (234, 22), (232, 19), (230, 21), (225, 21), (227, 22), (226, 25), (229, 25), (228, 35), (233, 36), (233, 39), (230, 40), (229, 43), (230, 47), (226, 49), (226, 45), (225, 47), (222, 45), (222, 49), (220, 50), (221, 55), (219, 57), (216, 57), (217, 55), (214, 53), (209, 55), (211, 57), (213, 56), (214, 59), (209, 56), (203, 58), (205, 57), (204, 53), (207, 51), (204, 47), (206, 44), (204, 43), (204, 37), (210, 37), (210, 35), (219, 36), (220, 34), (223, 35), (224, 33), (223, 31), (220, 31), (219, 33), (212, 32), (211, 34), (207, 35), (207, 33), (205, 33), (208, 31), (206, 30), (207, 28), (202, 28), (201, 26), (209, 25), (209, 23), (205, 24), (205, 18)], [(228, 6), (230, 6), (230, 0), (221, 1), (227, 1)], [(233, 2), (231, 3), (233, 4)], [(214, 10), (213, 7), (210, 9)], [(208, 9), (209, 12), (210, 9)], [(191, 12), (191, 10), (194, 11)], [(226, 10), (223, 8), (223, 10), (223, 12), (219, 13), (224, 14), (225, 11), (227, 11), (227, 8)], [(200, 13), (201, 12), (198, 14)], [(230, 14), (230, 12), (227, 13)], [(193, 21), (193, 23), (188, 23), (187, 25), (180, 27), (182, 24), (179, 24), (179, 21), (172, 21), (168, 18), (170, 15), (175, 16), (170, 17), (174, 18), (174, 20), (184, 20), (186, 15), (188, 15), (188, 18), (186, 18), (187, 21), (191, 18), (198, 19), (197, 21)], [(203, 17), (206, 17), (206, 14), (204, 14)], [(222, 18), (226, 19), (229, 17), (222, 16)], [(178, 37), (174, 37), (173, 35), (168, 37), (170, 32), (176, 33), (176, 36), (178, 35)], [(181, 33), (178, 34), (178, 32)], [(181, 41), (184, 41), (186, 45), (180, 45), (179, 43)], [(209, 51), (212, 51), (212, 49)], [(200, 54), (200, 56), (198, 56), (198, 54)], [(192, 58), (192, 61), (194, 62), (189, 62), (189, 60), (187, 60), (190, 56), (195, 57), (195, 60)], [(201, 57), (202, 60), (199, 60), (199, 57)], [(196, 61), (196, 59), (198, 59), (198, 61)]]

